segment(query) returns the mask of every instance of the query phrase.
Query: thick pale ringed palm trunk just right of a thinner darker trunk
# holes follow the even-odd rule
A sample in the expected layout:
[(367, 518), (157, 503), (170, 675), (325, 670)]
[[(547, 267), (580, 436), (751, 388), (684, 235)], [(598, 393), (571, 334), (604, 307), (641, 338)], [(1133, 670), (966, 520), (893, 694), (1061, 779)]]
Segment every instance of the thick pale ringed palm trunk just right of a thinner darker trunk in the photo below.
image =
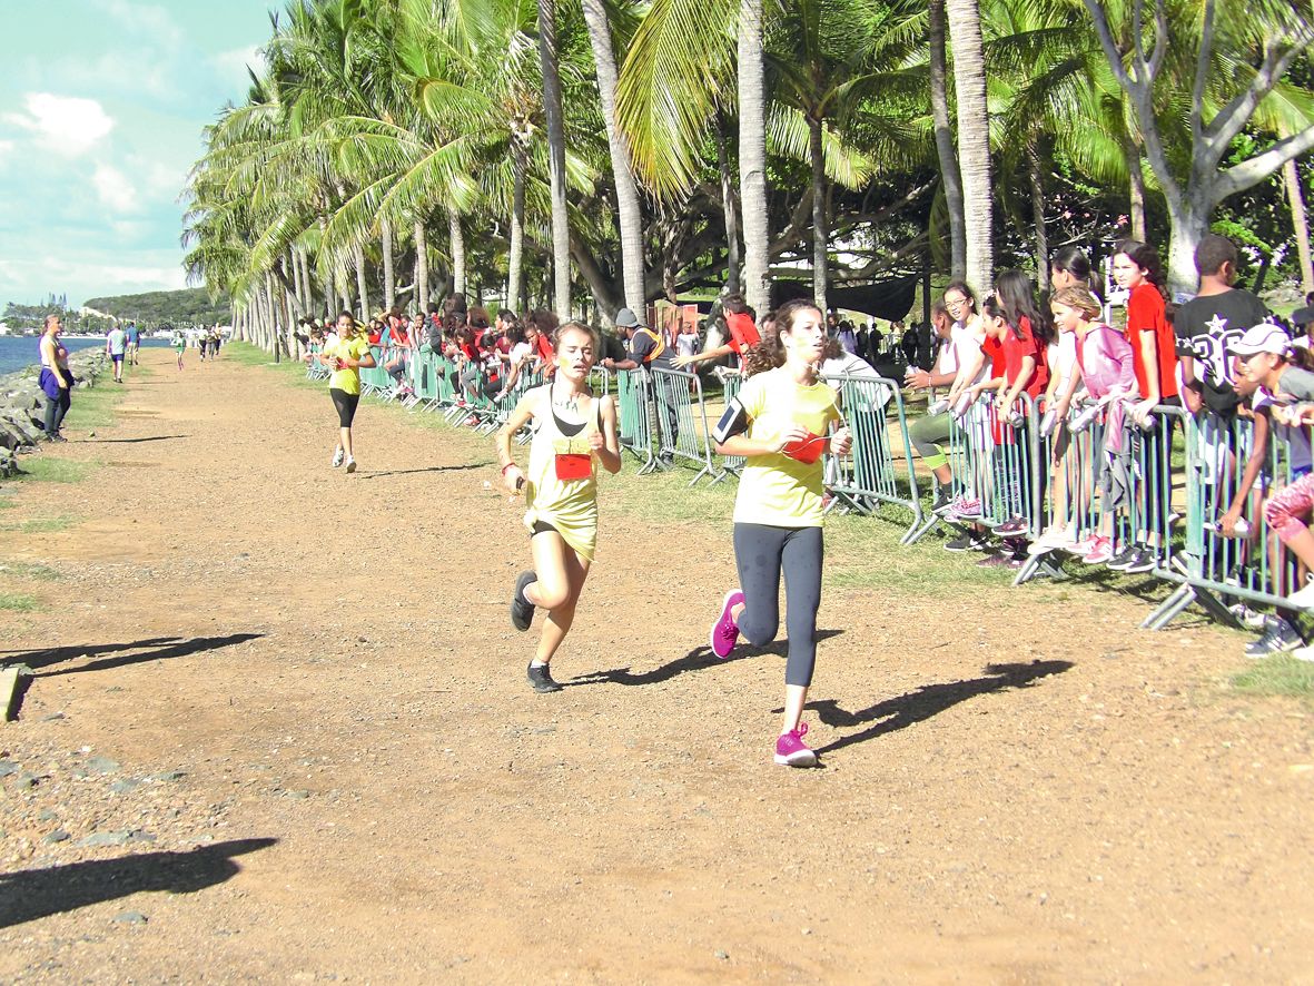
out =
[(954, 45), (954, 91), (958, 96), (958, 155), (963, 172), (963, 218), (967, 231), (967, 283), (984, 294), (993, 280), (995, 213), (989, 176), (989, 109), (986, 62), (976, 0), (945, 0)]

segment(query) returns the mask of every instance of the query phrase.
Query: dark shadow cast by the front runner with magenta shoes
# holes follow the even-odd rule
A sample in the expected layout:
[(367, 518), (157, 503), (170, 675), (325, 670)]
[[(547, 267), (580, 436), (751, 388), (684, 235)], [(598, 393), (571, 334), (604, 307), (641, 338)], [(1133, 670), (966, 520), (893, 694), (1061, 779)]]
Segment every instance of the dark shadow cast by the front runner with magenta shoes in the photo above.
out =
[[(1003, 692), (1005, 689), (1028, 688), (1041, 678), (1051, 674), (1062, 674), (1072, 667), (1072, 661), (1031, 661), (1030, 664), (987, 664), (986, 674), (979, 678), (966, 681), (946, 681), (938, 685), (922, 685), (916, 692), (887, 698), (884, 702), (859, 709), (855, 713), (846, 711), (836, 705), (834, 699), (825, 698), (819, 702), (808, 702), (807, 707), (816, 711), (817, 716), (827, 726), (853, 727), (874, 723), (862, 732), (853, 732), (841, 736), (834, 743), (817, 749), (817, 753), (832, 753), (857, 743), (883, 736), (887, 732), (896, 732), (907, 728), (946, 709), (951, 709), (968, 698), (984, 695), (989, 692)], [(775, 711), (782, 711), (777, 709)]]

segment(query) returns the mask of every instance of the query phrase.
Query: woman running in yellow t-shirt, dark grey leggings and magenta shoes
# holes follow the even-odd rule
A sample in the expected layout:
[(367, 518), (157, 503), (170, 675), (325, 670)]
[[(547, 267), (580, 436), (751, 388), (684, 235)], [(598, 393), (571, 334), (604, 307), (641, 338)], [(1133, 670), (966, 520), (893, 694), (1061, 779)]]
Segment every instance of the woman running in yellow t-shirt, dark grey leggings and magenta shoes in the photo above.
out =
[(721, 602), (711, 648), (725, 659), (740, 635), (756, 647), (775, 639), (783, 571), (790, 649), (775, 763), (788, 766), (817, 763), (803, 741), (808, 727), (802, 718), (816, 664), (821, 605), (821, 455), (846, 455), (851, 446), (848, 427), (827, 436), (841, 418), (836, 392), (820, 379), (825, 344), (820, 309), (809, 301), (782, 305), (774, 333), (745, 356), (748, 379), (715, 430), (720, 455), (748, 461), (735, 497), (740, 588)]

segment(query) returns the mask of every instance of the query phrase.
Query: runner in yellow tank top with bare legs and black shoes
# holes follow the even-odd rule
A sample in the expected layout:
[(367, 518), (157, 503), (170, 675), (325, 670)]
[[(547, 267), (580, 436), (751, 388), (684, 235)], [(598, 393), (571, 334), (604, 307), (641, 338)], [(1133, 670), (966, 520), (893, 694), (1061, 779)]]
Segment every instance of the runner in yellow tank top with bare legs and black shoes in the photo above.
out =
[[(598, 337), (579, 322), (556, 331), (557, 372), (516, 404), (494, 436), (502, 482), (523, 492), (528, 510), (533, 571), (522, 572), (511, 594), (511, 624), (526, 631), (533, 611), (545, 609), (539, 647), (526, 674), (535, 692), (560, 692), (549, 664), (574, 623), (598, 544), (597, 465), (620, 472), (616, 405), (608, 394), (594, 397), (589, 372), (597, 360)], [(533, 422), (530, 464), (522, 471), (511, 456), (511, 438)]]

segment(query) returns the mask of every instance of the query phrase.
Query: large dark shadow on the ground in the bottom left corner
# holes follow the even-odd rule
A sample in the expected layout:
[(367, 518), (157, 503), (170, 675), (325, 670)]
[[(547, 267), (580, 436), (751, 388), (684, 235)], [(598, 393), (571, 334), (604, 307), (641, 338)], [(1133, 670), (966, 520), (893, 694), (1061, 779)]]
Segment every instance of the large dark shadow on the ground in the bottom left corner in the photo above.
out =
[(118, 860), (0, 873), (0, 928), (142, 891), (194, 894), (240, 873), (234, 856), (267, 849), (277, 841), (242, 839), (189, 852), (147, 852)]

